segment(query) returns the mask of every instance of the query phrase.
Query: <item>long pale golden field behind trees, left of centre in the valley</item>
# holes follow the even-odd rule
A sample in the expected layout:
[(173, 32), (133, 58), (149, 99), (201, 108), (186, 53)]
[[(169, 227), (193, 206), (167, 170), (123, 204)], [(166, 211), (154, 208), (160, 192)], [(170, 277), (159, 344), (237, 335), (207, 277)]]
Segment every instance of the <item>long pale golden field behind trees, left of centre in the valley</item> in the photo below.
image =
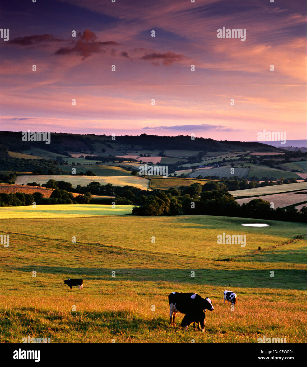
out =
[[(143, 177), (137, 176), (76, 176), (76, 175), (35, 175), (35, 181), (37, 183), (46, 183), (50, 178), (56, 181), (67, 181), (71, 182), (72, 186), (75, 188), (77, 185), (86, 186), (91, 181), (100, 182), (101, 185), (106, 185), (107, 183), (112, 183), (114, 186), (125, 186), (132, 185), (137, 188), (146, 190), (149, 185), (149, 180)], [(17, 176), (16, 183), (21, 184), (28, 182), (33, 182), (33, 176)]]

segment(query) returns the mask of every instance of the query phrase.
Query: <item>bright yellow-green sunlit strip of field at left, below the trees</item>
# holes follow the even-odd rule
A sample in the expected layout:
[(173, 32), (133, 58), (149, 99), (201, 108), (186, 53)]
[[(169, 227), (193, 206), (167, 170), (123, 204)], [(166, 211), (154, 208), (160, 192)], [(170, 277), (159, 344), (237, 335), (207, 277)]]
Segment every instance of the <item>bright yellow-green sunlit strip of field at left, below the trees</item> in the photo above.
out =
[(99, 205), (99, 204), (58, 204), (32, 205), (20, 207), (1, 207), (0, 219), (12, 218), (77, 218), (96, 215), (130, 214), (132, 205)]

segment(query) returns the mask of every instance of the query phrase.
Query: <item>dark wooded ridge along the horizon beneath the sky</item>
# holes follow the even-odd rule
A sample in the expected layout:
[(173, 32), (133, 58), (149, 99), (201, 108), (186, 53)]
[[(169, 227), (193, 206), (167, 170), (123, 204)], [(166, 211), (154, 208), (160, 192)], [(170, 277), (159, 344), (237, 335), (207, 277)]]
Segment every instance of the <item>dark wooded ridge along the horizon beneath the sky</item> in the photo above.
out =
[[(195, 138), (191, 139), (189, 135), (178, 135), (176, 137), (157, 136), (141, 134), (138, 136), (122, 135), (116, 136), (115, 140), (108, 135), (82, 135), (67, 133), (51, 133), (51, 142), (46, 144), (44, 141), (27, 142), (22, 141), (22, 132), (1, 131), (0, 144), (6, 150), (18, 152), (21, 150), (30, 150), (40, 148), (57, 154), (69, 156), (68, 152), (91, 152), (101, 155), (105, 147), (106, 152), (109, 149), (117, 150), (128, 148), (136, 149), (159, 149), (171, 150), (194, 150), (199, 152), (227, 152), (231, 150), (254, 150), (259, 152), (282, 152), (283, 149), (275, 148), (260, 142), (241, 142), (241, 141), (215, 141), (214, 139)], [(99, 148), (98, 148), (99, 147)], [(108, 152), (109, 153), (109, 152)], [(118, 155), (118, 154), (116, 154)]]

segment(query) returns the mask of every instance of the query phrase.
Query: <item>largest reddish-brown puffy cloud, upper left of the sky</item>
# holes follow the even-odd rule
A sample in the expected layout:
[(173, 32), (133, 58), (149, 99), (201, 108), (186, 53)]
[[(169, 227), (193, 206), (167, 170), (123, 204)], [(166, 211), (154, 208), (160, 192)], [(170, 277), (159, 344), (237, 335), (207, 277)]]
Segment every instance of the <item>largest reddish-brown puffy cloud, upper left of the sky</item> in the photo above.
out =
[(97, 37), (95, 33), (91, 32), (89, 29), (86, 29), (83, 33), (79, 32), (77, 34), (77, 40), (71, 42), (72, 46), (61, 47), (55, 51), (55, 54), (68, 55), (75, 53), (82, 56), (82, 60), (84, 60), (91, 56), (94, 52), (105, 52), (102, 50), (103, 46), (118, 45), (118, 43), (114, 41), (100, 42), (96, 40)]

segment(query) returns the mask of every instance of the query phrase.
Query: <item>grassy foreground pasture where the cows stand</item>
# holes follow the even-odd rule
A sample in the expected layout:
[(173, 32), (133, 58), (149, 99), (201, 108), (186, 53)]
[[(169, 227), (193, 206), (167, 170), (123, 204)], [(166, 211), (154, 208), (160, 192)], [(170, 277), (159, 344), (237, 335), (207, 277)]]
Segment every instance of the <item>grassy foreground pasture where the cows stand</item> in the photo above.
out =
[[(1, 250), (1, 342), (21, 342), (28, 335), (50, 337), (51, 343), (257, 343), (263, 335), (306, 342), (306, 240), (236, 261), (214, 260), (307, 232), (306, 224), (286, 222), (241, 226), (252, 221), (209, 216), (3, 219), (1, 234), (10, 234), (10, 246)], [(216, 235), (223, 231), (250, 235), (246, 248), (217, 245)], [(69, 291), (63, 280), (70, 277), (82, 277), (84, 289)], [(223, 305), (227, 288), (239, 297), (234, 312)], [(171, 291), (212, 299), (215, 310), (207, 311), (206, 333), (182, 330), (181, 314), (176, 328), (170, 327)]]

